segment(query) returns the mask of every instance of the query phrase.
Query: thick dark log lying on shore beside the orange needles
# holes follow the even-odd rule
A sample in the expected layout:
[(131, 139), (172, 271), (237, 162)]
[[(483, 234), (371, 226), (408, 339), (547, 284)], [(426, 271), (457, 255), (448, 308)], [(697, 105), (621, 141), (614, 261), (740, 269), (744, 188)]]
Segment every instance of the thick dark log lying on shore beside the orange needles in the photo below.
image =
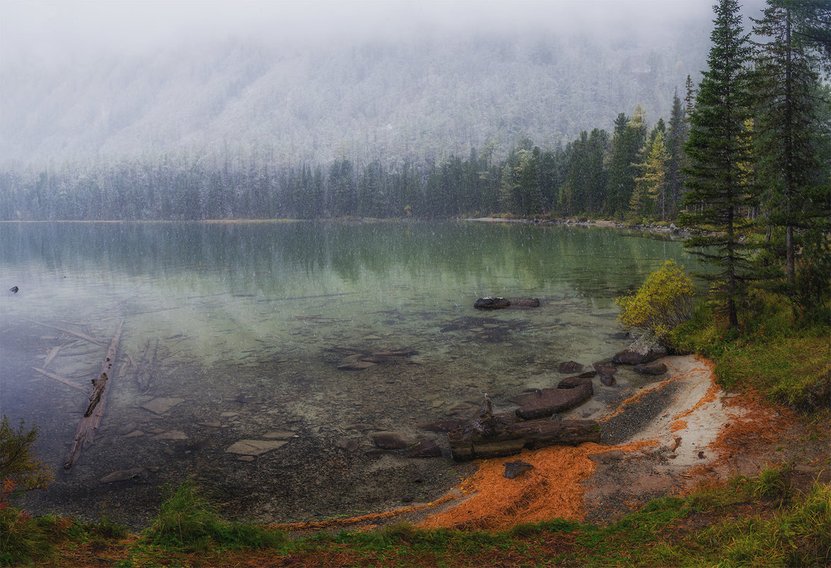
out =
[(529, 420), (489, 425), (471, 422), (447, 434), (450, 452), (457, 462), (513, 456), (524, 449), (578, 446), (600, 442), (600, 425), (594, 420)]

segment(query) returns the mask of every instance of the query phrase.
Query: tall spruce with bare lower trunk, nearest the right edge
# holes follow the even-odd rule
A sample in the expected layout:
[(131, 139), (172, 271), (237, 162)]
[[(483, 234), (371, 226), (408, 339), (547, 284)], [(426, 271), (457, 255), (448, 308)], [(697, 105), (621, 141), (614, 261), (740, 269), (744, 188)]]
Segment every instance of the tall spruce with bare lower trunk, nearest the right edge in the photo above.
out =
[(819, 186), (819, 74), (805, 39), (796, 33), (794, 0), (768, 0), (764, 17), (754, 19), (755, 151), (765, 185), (770, 225), (784, 229), (784, 266), (795, 283), (795, 230), (812, 228), (829, 211)]

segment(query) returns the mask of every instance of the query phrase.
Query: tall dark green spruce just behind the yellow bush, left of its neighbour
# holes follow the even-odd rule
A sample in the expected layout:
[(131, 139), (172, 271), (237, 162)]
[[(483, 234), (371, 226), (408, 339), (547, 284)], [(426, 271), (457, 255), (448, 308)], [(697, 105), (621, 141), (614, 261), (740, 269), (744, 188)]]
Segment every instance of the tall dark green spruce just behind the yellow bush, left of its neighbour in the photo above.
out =
[(748, 220), (742, 215), (755, 198), (745, 184), (743, 165), (749, 149), (745, 121), (750, 117), (748, 34), (741, 24), (736, 0), (714, 6), (715, 27), (708, 67), (701, 79), (690, 116), (685, 150), (688, 213), (683, 222), (706, 231), (686, 242), (694, 254), (714, 265), (714, 291), (725, 302), (730, 328), (739, 327), (736, 300), (750, 278), (750, 247), (745, 240)]

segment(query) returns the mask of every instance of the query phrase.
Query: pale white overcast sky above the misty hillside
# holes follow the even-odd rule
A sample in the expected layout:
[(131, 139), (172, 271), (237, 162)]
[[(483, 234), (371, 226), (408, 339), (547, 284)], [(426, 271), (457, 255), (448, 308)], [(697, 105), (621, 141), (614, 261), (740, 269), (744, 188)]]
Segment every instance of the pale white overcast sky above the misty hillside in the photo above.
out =
[(88, 57), (183, 42), (396, 40), (533, 27), (605, 29), (711, 17), (715, 0), (0, 0), (0, 57)]

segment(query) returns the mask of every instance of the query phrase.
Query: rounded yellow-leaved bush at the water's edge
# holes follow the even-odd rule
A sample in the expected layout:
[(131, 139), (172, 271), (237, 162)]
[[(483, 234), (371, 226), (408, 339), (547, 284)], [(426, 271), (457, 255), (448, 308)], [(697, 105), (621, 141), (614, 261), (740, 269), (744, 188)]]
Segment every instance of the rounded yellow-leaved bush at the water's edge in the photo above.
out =
[(649, 275), (641, 288), (615, 300), (617, 319), (632, 330), (666, 341), (672, 328), (692, 317), (691, 279), (672, 260)]

